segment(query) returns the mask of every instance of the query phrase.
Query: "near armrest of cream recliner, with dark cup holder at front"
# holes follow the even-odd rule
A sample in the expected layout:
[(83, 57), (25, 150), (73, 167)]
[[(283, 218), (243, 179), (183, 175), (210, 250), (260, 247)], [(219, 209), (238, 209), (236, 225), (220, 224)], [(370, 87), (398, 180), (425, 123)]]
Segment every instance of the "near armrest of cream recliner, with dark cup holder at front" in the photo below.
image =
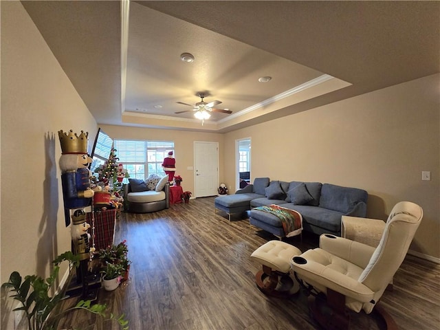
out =
[(325, 265), (308, 260), (307, 252), (301, 256), (303, 255), (307, 263), (299, 264), (292, 259), (291, 265), (294, 272), (307, 283), (316, 287), (327, 287), (362, 303), (368, 303), (373, 299), (375, 293), (366, 285)]

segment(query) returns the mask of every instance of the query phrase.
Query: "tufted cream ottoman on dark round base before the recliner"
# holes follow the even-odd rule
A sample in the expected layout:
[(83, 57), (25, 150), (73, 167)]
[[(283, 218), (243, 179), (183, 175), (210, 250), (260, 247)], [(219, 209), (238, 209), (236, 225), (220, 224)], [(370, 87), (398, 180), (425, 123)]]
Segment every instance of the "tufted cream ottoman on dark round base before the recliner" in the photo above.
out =
[(263, 265), (255, 275), (261, 292), (278, 298), (289, 298), (299, 290), (299, 284), (290, 276), (290, 260), (301, 251), (283, 241), (269, 241), (252, 254), (252, 259)]

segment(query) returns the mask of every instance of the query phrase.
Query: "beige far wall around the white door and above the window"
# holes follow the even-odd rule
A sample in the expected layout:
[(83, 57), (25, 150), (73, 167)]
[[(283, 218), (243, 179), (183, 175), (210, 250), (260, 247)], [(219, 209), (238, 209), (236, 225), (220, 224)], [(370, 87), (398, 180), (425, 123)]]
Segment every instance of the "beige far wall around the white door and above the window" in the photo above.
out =
[(173, 141), (175, 146), (176, 175), (181, 175), (184, 190), (194, 193), (194, 142), (219, 143), (219, 178), (223, 177), (223, 135), (171, 129), (141, 129), (138, 127), (99, 125), (112, 139), (126, 140), (165, 140)]

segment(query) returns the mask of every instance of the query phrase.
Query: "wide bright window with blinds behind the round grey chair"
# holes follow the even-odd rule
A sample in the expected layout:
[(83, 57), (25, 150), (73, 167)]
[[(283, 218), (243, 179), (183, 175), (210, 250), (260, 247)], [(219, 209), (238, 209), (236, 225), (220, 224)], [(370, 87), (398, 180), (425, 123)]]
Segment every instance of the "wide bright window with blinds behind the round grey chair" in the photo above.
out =
[(150, 174), (164, 176), (162, 162), (169, 151), (174, 151), (174, 142), (115, 140), (116, 155), (130, 177), (146, 179)]

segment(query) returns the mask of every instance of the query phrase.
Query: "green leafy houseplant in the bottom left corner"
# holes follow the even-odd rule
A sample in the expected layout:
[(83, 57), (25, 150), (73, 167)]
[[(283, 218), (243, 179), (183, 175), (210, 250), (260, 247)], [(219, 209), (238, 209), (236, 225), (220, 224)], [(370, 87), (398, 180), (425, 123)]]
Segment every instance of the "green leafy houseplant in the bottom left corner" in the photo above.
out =
[[(28, 275), (25, 276), (24, 281), (19, 272), (12, 272), (8, 282), (1, 285), (6, 289), (7, 294), (14, 292), (12, 298), (19, 301), (21, 307), (17, 307), (14, 311), (23, 311), (25, 318), (28, 320), (28, 330), (54, 330), (57, 328), (61, 316), (69, 311), (84, 309), (93, 314), (98, 314), (104, 318), (107, 317), (105, 310), (106, 305), (95, 304), (91, 305), (90, 300), (80, 300), (74, 307), (65, 310), (59, 310), (58, 303), (64, 298), (65, 290), (50, 296), (52, 286), (58, 272), (60, 270), (60, 263), (69, 261), (70, 267), (78, 267), (79, 258), (72, 252), (68, 251), (58, 256), (54, 261), (54, 269), (50, 277), (43, 279), (40, 276)], [(111, 314), (108, 320), (114, 320), (119, 323), (121, 329), (129, 329), (128, 321), (124, 320), (124, 315), (115, 318)]]

